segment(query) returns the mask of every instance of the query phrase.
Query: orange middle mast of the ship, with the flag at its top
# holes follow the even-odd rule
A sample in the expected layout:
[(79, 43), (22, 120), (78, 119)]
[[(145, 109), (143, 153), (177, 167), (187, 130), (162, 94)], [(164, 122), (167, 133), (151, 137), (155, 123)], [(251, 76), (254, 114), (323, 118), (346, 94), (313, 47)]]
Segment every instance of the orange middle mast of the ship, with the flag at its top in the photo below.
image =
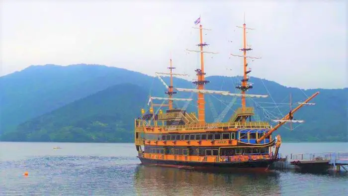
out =
[[(198, 86), (198, 90), (204, 90), (204, 85), (209, 83), (209, 81), (204, 80), (204, 58), (203, 58), (203, 46), (207, 46), (206, 43), (203, 43), (203, 33), (202, 33), (202, 24), (199, 25), (199, 44), (197, 46), (200, 47), (200, 69), (196, 69), (195, 72), (197, 72), (197, 81), (193, 82)], [(204, 101), (204, 94), (201, 92), (198, 92), (198, 121), (199, 124), (205, 123), (205, 101)]]

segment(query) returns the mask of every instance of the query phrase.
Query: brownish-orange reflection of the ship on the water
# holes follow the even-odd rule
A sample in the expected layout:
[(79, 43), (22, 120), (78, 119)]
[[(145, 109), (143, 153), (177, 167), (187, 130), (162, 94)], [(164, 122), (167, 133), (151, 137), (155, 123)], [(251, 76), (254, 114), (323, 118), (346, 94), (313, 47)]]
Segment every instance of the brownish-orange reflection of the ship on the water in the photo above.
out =
[(279, 174), (251, 171), (204, 171), (139, 165), (139, 195), (280, 195)]

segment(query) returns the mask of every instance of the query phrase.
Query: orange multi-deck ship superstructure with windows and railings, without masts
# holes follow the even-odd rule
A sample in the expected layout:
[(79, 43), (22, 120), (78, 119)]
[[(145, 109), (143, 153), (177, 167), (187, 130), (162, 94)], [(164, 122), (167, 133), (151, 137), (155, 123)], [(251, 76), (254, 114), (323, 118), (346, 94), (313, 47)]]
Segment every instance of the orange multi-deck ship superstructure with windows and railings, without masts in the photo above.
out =
[(135, 120), (136, 147), (139, 156), (150, 159), (268, 159), (275, 140), (269, 136), (257, 143), (257, 139), (271, 126), (252, 121), (253, 115), (253, 107), (238, 108), (228, 122), (199, 124), (195, 112), (174, 108), (154, 114), (150, 109)]

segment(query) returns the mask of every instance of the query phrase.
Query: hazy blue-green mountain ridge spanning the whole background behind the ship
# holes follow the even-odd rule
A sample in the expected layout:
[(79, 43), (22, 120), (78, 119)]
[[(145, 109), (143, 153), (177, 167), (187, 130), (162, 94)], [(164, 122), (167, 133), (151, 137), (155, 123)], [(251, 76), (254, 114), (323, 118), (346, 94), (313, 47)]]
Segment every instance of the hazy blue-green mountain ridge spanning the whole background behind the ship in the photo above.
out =
[[(168, 81), (168, 78), (165, 80)], [(235, 84), (239, 82), (238, 77), (211, 76), (207, 77), (207, 80), (209, 80), (210, 83), (207, 84), (206, 89), (230, 92), (235, 92)], [(288, 102), (288, 96), (290, 93), (293, 100), (303, 100), (306, 98), (305, 95), (310, 96), (316, 91), (320, 91), (319, 96), (313, 100), (313, 102), (317, 103), (315, 106), (305, 106), (295, 114), (296, 118), (304, 119), (306, 123), (291, 132), (286, 129), (279, 130), (284, 141), (348, 141), (348, 88), (305, 91), (297, 88), (287, 88), (275, 82), (261, 80), (254, 77), (251, 77), (250, 81), (254, 83), (255, 88), (252, 89), (249, 94), (265, 95), (269, 92), (271, 95), (271, 98), (269, 97), (262, 100), (258, 99), (257, 101), (260, 102), (273, 102), (272, 99), (274, 99), (275, 102)], [(194, 87), (191, 82), (177, 78), (174, 79), (174, 85), (180, 88)], [(106, 100), (106, 97), (112, 97), (113, 93), (109, 90), (110, 88), (113, 89), (114, 92), (116, 92), (118, 88), (123, 89), (122, 91), (124, 91), (125, 94), (134, 96), (132, 94), (134, 92), (127, 92), (127, 90), (125, 90), (127, 87), (133, 91), (142, 92), (141, 95), (144, 94), (144, 97), (138, 95), (136, 99), (132, 99), (132, 104), (134, 104), (134, 107), (137, 109), (146, 107), (147, 96), (150, 90), (152, 96), (165, 96), (165, 88), (157, 78), (126, 69), (100, 65), (79, 64), (71, 66), (31, 66), (21, 72), (0, 77), (0, 133), (6, 132), (6, 134), (2, 134), (1, 140), (52, 141), (53, 138), (54, 141), (73, 141), (62, 139), (64, 137), (60, 136), (52, 136), (52, 131), (65, 131), (71, 133), (73, 130), (76, 132), (76, 130), (81, 131), (81, 129), (83, 129), (84, 131), (82, 131), (81, 134), (85, 136), (80, 136), (81, 138), (84, 138), (81, 139), (81, 141), (132, 141), (133, 120), (140, 114), (139, 110), (125, 113), (124, 116), (128, 116), (127, 119), (129, 118), (130, 121), (122, 118), (121, 123), (120, 121), (117, 121), (119, 117), (116, 118), (115, 115), (111, 114), (105, 116), (103, 115), (102, 109), (95, 109), (92, 102), (87, 101), (90, 105), (87, 105), (86, 102), (86, 99)], [(267, 89), (265, 89), (265, 87)], [(105, 93), (104, 91), (108, 93)], [(180, 92), (176, 97), (190, 96), (190, 93)], [(192, 98), (196, 98), (196, 95), (192, 94)], [(81, 103), (79, 103), (80, 101)], [(129, 104), (130, 101), (130, 99), (121, 98), (115, 103), (104, 101), (104, 103), (99, 106), (101, 108), (107, 108), (107, 105), (112, 105), (113, 108), (122, 108), (122, 104)], [(207, 121), (214, 121), (214, 116), (216, 116), (216, 113), (214, 112), (220, 113), (224, 108), (226, 108), (226, 104), (230, 101), (231, 98), (223, 96), (206, 96)], [(233, 105), (233, 109), (238, 107), (239, 103), (240, 100), (238, 98), (236, 103)], [(75, 104), (86, 104), (87, 109), (83, 113), (84, 115), (85, 113), (88, 113), (88, 111), (97, 112), (94, 114), (94, 117), (91, 116), (88, 118), (89, 121), (81, 120), (82, 118), (85, 119), (85, 116), (81, 113), (78, 115), (76, 112), (79, 111), (64, 112), (66, 111), (64, 108), (74, 107), (73, 105)], [(193, 100), (188, 105), (187, 110), (195, 111), (195, 104), (196, 103)], [(265, 107), (258, 107), (260, 105), (257, 105), (254, 100), (248, 100), (248, 104), (256, 107), (257, 114), (255, 118), (261, 119), (262, 116), (264, 116), (263, 110)], [(213, 105), (214, 108), (212, 108), (211, 105)], [(265, 105), (261, 106), (263, 107)], [(285, 114), (288, 110), (288, 106), (281, 107), (281, 105), (279, 105), (279, 108), (274, 107), (271, 112), (279, 113), (280, 111), (282, 114)], [(232, 112), (232, 110), (229, 111), (224, 120), (228, 119)], [(51, 116), (51, 118), (48, 116)], [(63, 116), (73, 120), (62, 120), (66, 119)], [(118, 129), (123, 133), (122, 139), (117, 139), (121, 138), (119, 135), (102, 137), (96, 134), (96, 132), (93, 132), (94, 135), (92, 134), (93, 136), (91, 136), (91, 131), (88, 127), (90, 128), (89, 123), (94, 121), (108, 124), (107, 126), (113, 126), (106, 128), (108, 131), (113, 130), (116, 133), (118, 132), (116, 129)], [(113, 124), (112, 121), (117, 121), (117, 126), (116, 124)], [(70, 128), (67, 128), (69, 126)], [(77, 129), (75, 130), (74, 127)], [(104, 133), (105, 131), (107, 132), (106, 129), (98, 130), (99, 132)], [(47, 133), (43, 130), (46, 130)], [(38, 134), (40, 131), (42, 133), (41, 135)], [(26, 133), (22, 134), (25, 135), (25, 137), (20, 137), (20, 133)], [(44, 133), (46, 136), (43, 136), (45, 135)], [(67, 135), (69, 134), (67, 133)], [(16, 137), (18, 139), (15, 139)], [(94, 139), (91, 139), (93, 137)], [(112, 137), (116, 138), (112, 139)], [(77, 138), (76, 141), (78, 141)]]

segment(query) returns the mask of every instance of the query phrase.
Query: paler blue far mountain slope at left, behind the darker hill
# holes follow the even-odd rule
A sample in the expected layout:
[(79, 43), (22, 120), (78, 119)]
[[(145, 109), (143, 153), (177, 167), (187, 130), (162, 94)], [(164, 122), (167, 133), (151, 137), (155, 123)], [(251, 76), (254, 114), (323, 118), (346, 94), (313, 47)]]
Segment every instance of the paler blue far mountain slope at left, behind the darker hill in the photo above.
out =
[(30, 66), (0, 77), (0, 133), (116, 84), (148, 88), (153, 77), (100, 65)]

